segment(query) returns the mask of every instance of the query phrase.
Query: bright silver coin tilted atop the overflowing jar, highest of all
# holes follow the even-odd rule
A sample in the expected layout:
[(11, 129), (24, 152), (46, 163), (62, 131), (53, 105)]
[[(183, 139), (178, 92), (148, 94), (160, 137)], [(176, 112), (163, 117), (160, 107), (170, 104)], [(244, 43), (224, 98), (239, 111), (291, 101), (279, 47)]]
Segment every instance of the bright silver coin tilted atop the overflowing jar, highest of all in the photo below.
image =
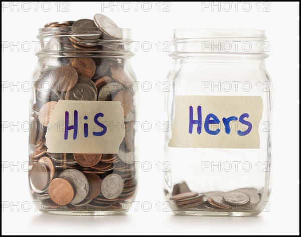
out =
[(107, 16), (99, 13), (95, 14), (94, 22), (104, 33), (102, 35), (103, 39), (122, 39), (122, 30)]

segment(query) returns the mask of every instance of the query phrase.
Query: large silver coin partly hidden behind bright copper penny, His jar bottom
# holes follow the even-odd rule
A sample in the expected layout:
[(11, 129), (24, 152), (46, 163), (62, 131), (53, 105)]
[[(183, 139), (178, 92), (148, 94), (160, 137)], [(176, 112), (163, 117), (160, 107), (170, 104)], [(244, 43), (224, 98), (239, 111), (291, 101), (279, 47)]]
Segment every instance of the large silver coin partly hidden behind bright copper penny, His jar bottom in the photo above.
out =
[(78, 204), (87, 197), (89, 182), (82, 172), (77, 169), (67, 169), (59, 175), (59, 178), (67, 178), (74, 186), (75, 195), (71, 204)]

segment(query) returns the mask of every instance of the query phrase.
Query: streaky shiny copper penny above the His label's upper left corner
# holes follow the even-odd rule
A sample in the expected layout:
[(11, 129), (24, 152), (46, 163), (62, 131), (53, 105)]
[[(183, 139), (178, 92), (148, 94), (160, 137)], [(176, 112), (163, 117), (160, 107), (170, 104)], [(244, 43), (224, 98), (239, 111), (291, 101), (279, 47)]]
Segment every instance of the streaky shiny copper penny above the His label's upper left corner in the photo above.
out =
[(57, 91), (70, 91), (78, 81), (78, 74), (73, 67), (56, 67), (50, 72), (50, 83)]

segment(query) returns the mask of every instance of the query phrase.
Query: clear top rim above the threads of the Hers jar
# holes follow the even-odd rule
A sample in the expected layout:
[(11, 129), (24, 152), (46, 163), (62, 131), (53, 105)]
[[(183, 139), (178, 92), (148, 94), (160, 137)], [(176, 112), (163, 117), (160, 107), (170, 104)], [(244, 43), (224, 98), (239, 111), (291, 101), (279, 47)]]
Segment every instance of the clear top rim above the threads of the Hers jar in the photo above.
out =
[(174, 29), (173, 41), (185, 39), (266, 39), (264, 30), (257, 29)]

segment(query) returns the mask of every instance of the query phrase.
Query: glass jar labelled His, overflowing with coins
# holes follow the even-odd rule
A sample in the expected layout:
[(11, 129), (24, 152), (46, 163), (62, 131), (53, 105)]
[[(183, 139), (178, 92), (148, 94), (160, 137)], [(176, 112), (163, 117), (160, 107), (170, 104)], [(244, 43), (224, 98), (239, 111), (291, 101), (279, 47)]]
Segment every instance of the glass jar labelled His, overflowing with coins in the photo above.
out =
[(32, 198), (51, 214), (124, 213), (137, 188), (137, 92), (125, 47), (130, 30), (96, 14), (48, 23), (38, 38), (30, 104)]

